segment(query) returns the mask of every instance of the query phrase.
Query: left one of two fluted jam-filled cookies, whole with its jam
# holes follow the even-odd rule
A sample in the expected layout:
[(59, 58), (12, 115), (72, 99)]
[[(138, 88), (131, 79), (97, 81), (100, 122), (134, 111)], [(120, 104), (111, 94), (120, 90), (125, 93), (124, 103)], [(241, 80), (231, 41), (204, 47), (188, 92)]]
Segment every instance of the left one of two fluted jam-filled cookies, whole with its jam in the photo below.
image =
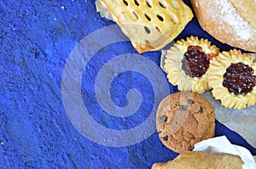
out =
[(180, 91), (204, 93), (211, 89), (207, 82), (208, 68), (212, 58), (218, 56), (219, 48), (207, 39), (188, 37), (162, 54), (166, 57), (167, 78)]

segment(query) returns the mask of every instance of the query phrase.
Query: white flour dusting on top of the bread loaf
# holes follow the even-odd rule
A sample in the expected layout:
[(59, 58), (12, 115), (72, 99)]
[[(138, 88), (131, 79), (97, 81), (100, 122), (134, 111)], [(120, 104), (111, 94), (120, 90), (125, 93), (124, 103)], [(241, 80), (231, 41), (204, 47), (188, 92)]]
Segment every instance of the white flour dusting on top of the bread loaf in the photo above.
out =
[[(241, 40), (245, 41), (253, 37), (252, 26), (249, 25), (246, 20), (241, 18), (241, 15), (236, 11), (236, 8), (233, 7), (230, 1), (214, 0), (214, 3), (220, 8), (220, 12), (223, 15), (221, 20), (233, 27), (237, 37), (240, 37)], [(219, 18), (218, 13), (215, 13), (215, 11), (213, 11), (212, 16)]]

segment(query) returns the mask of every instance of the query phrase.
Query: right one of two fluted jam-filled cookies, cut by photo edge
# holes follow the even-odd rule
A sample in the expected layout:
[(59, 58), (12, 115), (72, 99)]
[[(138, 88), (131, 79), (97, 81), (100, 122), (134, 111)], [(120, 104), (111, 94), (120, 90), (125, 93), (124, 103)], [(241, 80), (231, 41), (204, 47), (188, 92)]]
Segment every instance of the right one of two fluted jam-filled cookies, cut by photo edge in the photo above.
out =
[(240, 50), (223, 52), (212, 59), (208, 81), (212, 95), (227, 108), (244, 109), (256, 103), (256, 62)]

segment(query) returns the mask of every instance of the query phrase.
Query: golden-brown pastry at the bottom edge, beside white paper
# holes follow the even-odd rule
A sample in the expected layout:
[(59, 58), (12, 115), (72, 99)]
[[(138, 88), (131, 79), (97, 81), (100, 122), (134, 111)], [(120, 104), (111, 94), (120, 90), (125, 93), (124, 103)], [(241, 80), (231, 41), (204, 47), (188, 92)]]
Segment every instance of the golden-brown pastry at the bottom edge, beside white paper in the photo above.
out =
[(243, 161), (236, 155), (224, 153), (207, 153), (203, 151), (188, 151), (177, 156), (173, 161), (168, 161), (166, 164), (156, 163), (152, 169), (198, 169), (198, 168), (232, 168), (241, 169)]

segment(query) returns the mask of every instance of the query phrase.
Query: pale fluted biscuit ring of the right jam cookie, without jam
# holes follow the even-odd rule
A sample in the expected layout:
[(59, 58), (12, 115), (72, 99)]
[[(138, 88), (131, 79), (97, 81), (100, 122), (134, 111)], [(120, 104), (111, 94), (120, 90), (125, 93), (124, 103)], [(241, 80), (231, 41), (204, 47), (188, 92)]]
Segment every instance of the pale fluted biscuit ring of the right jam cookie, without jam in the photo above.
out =
[[(208, 81), (212, 87), (212, 95), (215, 99), (220, 99), (221, 104), (227, 108), (235, 108), (238, 110), (246, 108), (256, 103), (256, 86), (253, 87), (253, 91), (244, 95), (236, 95), (230, 93), (227, 87), (223, 86), (224, 74), (226, 69), (231, 64), (243, 63), (253, 68), (253, 76), (256, 76), (256, 62), (254, 62), (255, 56), (253, 54), (241, 54), (240, 50), (230, 50), (229, 52), (223, 52), (218, 55), (217, 58), (212, 59), (212, 64), (209, 67)], [(255, 79), (256, 81), (256, 79)]]

